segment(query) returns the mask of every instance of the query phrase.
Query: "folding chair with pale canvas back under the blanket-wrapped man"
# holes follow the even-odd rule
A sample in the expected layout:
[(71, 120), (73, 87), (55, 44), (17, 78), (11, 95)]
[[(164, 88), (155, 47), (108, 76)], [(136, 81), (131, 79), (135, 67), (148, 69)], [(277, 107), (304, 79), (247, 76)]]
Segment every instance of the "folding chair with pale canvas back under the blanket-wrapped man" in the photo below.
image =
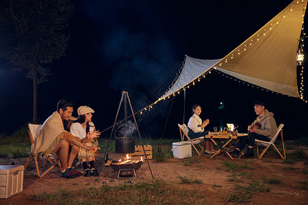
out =
[(43, 176), (45, 176), (51, 169), (53, 169), (53, 167), (55, 167), (55, 165), (58, 165), (59, 169), (61, 170), (60, 159), (55, 159), (55, 163), (53, 163), (51, 157), (47, 156), (44, 165), (46, 165), (47, 161), (49, 161), (49, 163), (51, 163), (51, 167), (49, 167), (49, 169), (47, 169), (43, 174), (40, 175), (40, 169), (38, 165), (40, 165), (40, 167), (44, 167), (44, 165), (41, 165), (40, 163), (40, 156), (38, 156), (38, 154), (34, 154), (34, 141), (36, 140), (38, 133), (40, 133), (40, 128), (42, 128), (42, 124), (28, 124), (28, 126), (29, 126), (28, 133), (31, 141), (31, 154), (27, 159), (27, 161), (25, 162), (24, 169), (27, 168), (27, 165), (33, 156), (36, 165), (36, 173), (38, 174), (38, 177), (42, 178)]

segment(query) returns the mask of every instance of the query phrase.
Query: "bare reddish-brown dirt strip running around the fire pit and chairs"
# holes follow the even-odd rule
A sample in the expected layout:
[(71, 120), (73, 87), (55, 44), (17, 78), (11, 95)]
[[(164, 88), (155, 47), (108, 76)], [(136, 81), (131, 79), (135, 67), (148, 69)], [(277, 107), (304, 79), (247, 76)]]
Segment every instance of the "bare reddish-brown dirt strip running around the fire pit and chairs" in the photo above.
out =
[[(301, 147), (307, 152), (307, 147)], [(123, 154), (110, 153), (110, 159), (120, 159)], [(98, 159), (100, 159), (99, 156)], [(279, 156), (272, 155), (264, 156), (263, 159), (227, 159), (220, 154), (214, 159), (209, 159), (208, 154), (202, 154), (196, 164), (184, 165), (185, 159), (167, 159), (163, 163), (155, 163), (149, 161), (153, 175), (157, 180), (164, 180), (169, 184), (174, 185), (178, 189), (196, 190), (203, 193), (207, 204), (224, 204), (224, 198), (231, 193), (235, 193), (235, 184), (247, 186), (252, 180), (260, 181), (265, 179), (279, 179), (277, 184), (268, 184), (269, 192), (258, 192), (253, 194), (249, 202), (242, 204), (307, 204), (308, 191), (300, 189), (300, 181), (307, 181), (308, 175), (303, 172), (307, 170), (307, 165), (303, 161), (298, 161), (293, 165), (282, 163), (283, 160)], [(15, 165), (25, 162), (26, 159), (0, 159), (1, 165), (8, 165), (14, 161)], [(189, 161), (185, 161), (189, 162)], [(230, 172), (226, 165), (222, 163), (236, 163), (248, 167), (248, 169), (239, 169)], [(37, 178), (34, 169), (34, 163), (31, 161), (24, 174), (23, 192), (14, 195), (8, 199), (1, 199), (0, 204), (43, 204), (31, 200), (32, 194), (48, 192), (56, 190), (60, 186), (71, 190), (82, 189), (82, 187), (100, 187), (102, 184), (110, 186), (123, 182), (136, 183), (142, 180), (151, 181), (151, 173), (146, 162), (142, 164), (142, 170), (139, 169), (137, 177), (116, 179), (116, 174), (112, 172), (111, 167), (103, 167), (102, 174), (97, 180), (97, 177), (85, 178), (80, 176), (74, 179), (64, 179), (60, 177), (60, 171), (54, 168), (50, 174), (44, 178)], [(82, 172), (82, 167), (77, 167), (79, 172)], [(144, 173), (142, 173), (142, 171)], [(244, 174), (248, 176), (244, 176)], [(179, 176), (188, 179), (201, 180), (201, 184), (183, 184)], [(233, 204), (231, 202), (227, 204)]]

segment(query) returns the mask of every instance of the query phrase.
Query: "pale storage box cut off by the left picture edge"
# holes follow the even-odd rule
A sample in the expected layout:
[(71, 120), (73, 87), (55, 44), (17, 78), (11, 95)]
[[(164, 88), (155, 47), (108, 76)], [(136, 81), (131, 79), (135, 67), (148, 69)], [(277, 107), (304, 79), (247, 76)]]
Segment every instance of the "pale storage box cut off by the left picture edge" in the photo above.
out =
[(23, 191), (23, 165), (0, 165), (0, 198)]

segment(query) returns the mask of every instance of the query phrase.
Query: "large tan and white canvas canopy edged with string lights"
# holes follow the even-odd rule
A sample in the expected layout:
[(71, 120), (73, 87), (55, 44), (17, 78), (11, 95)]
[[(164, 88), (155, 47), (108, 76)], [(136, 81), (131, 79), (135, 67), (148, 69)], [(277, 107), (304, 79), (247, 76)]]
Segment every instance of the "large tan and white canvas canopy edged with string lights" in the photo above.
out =
[(299, 98), (296, 51), (306, 6), (307, 0), (293, 1), (222, 59), (205, 60), (186, 56), (177, 81), (159, 100), (185, 90), (212, 69), (272, 92)]

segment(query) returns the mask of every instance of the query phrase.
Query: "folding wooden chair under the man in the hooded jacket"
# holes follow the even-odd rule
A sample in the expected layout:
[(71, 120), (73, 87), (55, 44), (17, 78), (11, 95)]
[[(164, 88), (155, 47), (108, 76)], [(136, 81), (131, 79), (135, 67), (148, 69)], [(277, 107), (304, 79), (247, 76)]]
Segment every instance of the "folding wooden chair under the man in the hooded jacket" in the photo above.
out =
[[(268, 150), (268, 148), (270, 147), (270, 145), (274, 146), (275, 150), (277, 150), (277, 152), (279, 153), (279, 155), (281, 156), (282, 159), (285, 159), (285, 145), (283, 143), (283, 128), (284, 124), (280, 124), (278, 129), (277, 129), (277, 133), (274, 135), (274, 137), (272, 137), (272, 139), (270, 141), (261, 141), (259, 139), (255, 139), (255, 143), (257, 144), (257, 156), (259, 159), (262, 158), (262, 156), (265, 154), (266, 150)], [(283, 155), (279, 152), (279, 150), (277, 149), (277, 147), (274, 145), (278, 135), (281, 135), (281, 143), (283, 146)], [(264, 146), (266, 148), (264, 148), (263, 152), (260, 154), (259, 156), (259, 146)]]

